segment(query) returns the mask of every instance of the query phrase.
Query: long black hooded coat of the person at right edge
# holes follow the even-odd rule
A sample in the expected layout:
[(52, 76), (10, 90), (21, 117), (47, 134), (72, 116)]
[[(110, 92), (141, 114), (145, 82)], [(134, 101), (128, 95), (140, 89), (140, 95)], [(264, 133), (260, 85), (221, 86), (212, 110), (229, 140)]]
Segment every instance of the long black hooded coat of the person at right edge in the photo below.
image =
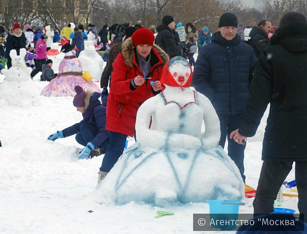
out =
[(280, 28), (264, 50), (239, 133), (253, 136), (270, 103), (262, 159), (307, 161), (307, 24)]

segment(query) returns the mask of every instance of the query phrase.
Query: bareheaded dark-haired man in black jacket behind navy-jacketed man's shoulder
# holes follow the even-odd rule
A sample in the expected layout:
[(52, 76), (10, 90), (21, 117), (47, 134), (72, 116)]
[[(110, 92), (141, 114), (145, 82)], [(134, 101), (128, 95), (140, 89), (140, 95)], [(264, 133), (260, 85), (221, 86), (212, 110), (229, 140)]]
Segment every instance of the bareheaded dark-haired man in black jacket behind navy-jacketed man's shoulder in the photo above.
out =
[(262, 20), (250, 32), (250, 46), (252, 46), (257, 59), (260, 58), (263, 50), (269, 46), (270, 39), (268, 35), (271, 32), (271, 27), (270, 21)]

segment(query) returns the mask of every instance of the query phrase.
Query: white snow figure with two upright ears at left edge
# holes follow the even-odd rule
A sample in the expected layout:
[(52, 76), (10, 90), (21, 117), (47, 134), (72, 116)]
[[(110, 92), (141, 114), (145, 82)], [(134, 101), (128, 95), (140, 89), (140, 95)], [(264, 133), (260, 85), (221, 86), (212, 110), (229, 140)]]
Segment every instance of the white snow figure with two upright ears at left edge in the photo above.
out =
[(20, 49), (20, 55), (16, 50), (10, 51), (12, 66), (2, 69), (6, 76), (0, 85), (0, 106), (37, 106), (40, 104), (39, 90), (31, 80), (31, 67), (25, 63), (26, 49)]

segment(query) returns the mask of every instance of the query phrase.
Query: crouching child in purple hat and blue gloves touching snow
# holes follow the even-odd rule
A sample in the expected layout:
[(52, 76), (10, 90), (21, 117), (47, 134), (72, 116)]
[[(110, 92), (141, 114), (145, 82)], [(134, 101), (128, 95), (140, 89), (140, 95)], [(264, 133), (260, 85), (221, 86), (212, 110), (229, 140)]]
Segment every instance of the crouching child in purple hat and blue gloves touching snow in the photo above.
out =
[(73, 98), (73, 106), (82, 113), (83, 120), (51, 134), (48, 140), (54, 141), (76, 134), (76, 141), (85, 146), (78, 158), (89, 159), (105, 153), (110, 143), (109, 134), (105, 129), (107, 96), (103, 94), (101, 104), (100, 93), (85, 92), (81, 86), (74, 87), (74, 90), (76, 95)]

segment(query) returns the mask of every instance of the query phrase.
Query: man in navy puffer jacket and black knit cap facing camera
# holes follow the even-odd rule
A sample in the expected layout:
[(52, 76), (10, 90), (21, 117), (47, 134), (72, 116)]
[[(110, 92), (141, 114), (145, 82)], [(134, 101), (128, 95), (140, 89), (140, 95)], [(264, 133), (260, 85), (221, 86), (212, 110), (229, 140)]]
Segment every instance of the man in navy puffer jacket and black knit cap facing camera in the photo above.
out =
[(245, 145), (229, 140), (229, 135), (243, 119), (257, 58), (252, 47), (236, 34), (237, 27), (238, 20), (234, 14), (225, 13), (220, 17), (219, 31), (198, 53), (192, 81), (195, 90), (211, 101), (220, 121), (219, 144), (224, 147), (227, 137), (228, 155), (245, 182)]

